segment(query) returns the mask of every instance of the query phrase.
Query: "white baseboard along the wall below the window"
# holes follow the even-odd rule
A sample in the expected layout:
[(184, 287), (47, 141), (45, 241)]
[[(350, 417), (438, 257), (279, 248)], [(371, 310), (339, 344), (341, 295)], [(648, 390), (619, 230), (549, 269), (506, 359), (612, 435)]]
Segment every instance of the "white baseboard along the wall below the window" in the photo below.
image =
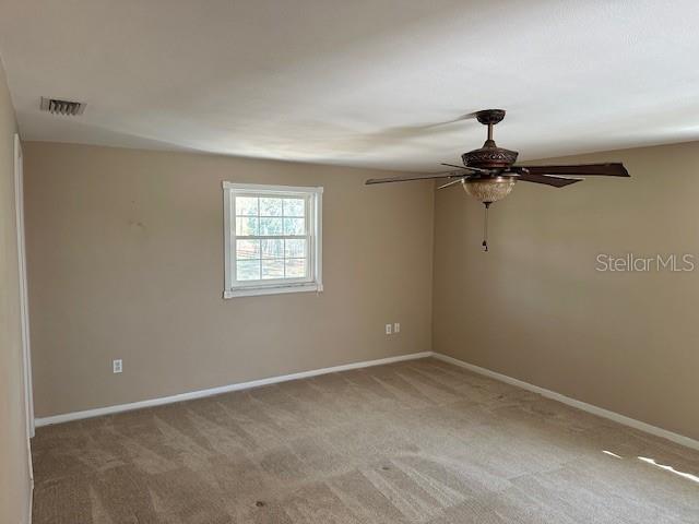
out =
[(280, 382), (286, 382), (288, 380), (307, 379), (309, 377), (318, 377), (319, 374), (336, 373), (339, 371), (368, 368), (371, 366), (381, 366), (383, 364), (400, 362), (403, 360), (414, 360), (417, 358), (429, 357), (431, 355), (433, 355), (431, 352), (413, 353), (410, 355), (400, 355), (398, 357), (379, 358), (377, 360), (365, 360), (363, 362), (345, 364), (342, 366), (333, 366), (331, 368), (321, 368), (321, 369), (313, 369), (311, 371), (301, 371), (299, 373), (282, 374), (279, 377), (270, 377), (266, 379), (252, 380), (249, 382), (238, 382), (236, 384), (222, 385), (218, 388), (211, 388), (208, 390), (191, 391), (188, 393), (163, 396), (159, 398), (152, 398), (147, 401), (131, 402), (129, 404), (119, 404), (116, 406), (98, 407), (95, 409), (86, 409), (84, 412), (73, 412), (73, 413), (66, 413), (62, 415), (55, 415), (51, 417), (37, 418), (35, 420), (35, 425), (37, 428), (39, 428), (42, 426), (49, 426), (52, 424), (69, 422), (71, 420), (82, 420), (84, 418), (99, 417), (103, 415), (112, 415), (115, 413), (130, 412), (132, 409), (142, 409), (144, 407), (162, 406), (164, 404), (171, 404), (174, 402), (191, 401), (193, 398), (202, 398), (204, 396), (220, 395), (222, 393), (228, 393), (232, 391), (258, 388), (260, 385), (276, 384)]

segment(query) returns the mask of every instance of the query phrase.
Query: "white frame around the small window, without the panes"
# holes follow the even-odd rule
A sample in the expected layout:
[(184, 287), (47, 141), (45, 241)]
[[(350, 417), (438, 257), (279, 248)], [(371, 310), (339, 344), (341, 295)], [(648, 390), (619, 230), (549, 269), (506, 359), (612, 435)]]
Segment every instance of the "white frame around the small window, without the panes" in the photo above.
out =
[[(270, 281), (236, 281), (236, 213), (235, 195), (303, 196), (307, 200), (306, 230), (308, 231), (309, 274), (304, 278)], [(322, 284), (322, 187), (268, 186), (259, 183), (223, 182), (224, 264), (223, 298), (251, 297), (323, 290)]]

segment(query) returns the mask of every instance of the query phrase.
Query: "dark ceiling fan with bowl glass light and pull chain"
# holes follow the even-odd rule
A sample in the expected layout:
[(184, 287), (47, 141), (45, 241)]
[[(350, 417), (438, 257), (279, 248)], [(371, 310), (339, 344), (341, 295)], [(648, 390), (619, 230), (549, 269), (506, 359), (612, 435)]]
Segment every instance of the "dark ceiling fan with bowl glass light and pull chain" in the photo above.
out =
[(571, 183), (580, 182), (590, 176), (628, 177), (629, 172), (620, 163), (609, 164), (579, 164), (566, 166), (517, 166), (517, 151), (498, 147), (493, 140), (493, 127), (502, 121), (505, 109), (484, 109), (463, 117), (476, 118), (478, 122), (488, 127), (488, 138), (483, 147), (470, 151), (461, 155), (463, 166), (454, 164), (441, 164), (453, 167), (460, 171), (440, 171), (423, 175), (408, 175), (404, 177), (371, 178), (367, 184), (405, 182), (408, 180), (425, 180), (449, 178), (449, 182), (437, 189), (445, 189), (461, 183), (467, 194), (474, 196), (485, 205), (485, 228), (483, 247), (488, 250), (487, 221), (490, 204), (506, 198), (518, 181), (543, 183), (554, 188), (565, 188)]

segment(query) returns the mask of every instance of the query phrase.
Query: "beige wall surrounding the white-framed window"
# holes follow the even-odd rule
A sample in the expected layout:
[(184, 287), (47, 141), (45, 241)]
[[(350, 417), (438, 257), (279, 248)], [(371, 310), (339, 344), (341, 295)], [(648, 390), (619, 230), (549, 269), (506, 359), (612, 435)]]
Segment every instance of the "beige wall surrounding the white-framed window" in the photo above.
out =
[[(431, 183), (54, 143), (25, 172), (38, 417), (431, 348)], [(322, 294), (222, 299), (222, 180), (324, 187)]]

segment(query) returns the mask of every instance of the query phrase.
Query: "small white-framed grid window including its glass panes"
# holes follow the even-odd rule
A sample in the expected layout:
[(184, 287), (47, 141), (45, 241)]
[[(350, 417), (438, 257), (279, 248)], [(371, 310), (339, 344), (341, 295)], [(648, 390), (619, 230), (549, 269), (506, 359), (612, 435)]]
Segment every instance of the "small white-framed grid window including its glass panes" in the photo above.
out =
[(224, 298), (321, 291), (323, 188), (223, 182)]

